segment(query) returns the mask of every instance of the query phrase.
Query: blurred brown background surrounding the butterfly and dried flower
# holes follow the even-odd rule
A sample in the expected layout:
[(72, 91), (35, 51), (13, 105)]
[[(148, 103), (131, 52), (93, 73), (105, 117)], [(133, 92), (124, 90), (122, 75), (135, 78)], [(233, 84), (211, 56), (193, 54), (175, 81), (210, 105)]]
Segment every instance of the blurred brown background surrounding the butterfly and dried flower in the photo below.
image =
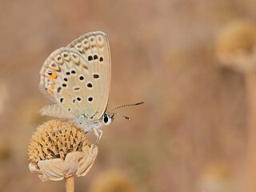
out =
[(254, 0), (0, 3), (0, 191), (64, 191), (28, 169), (31, 134), (50, 119), (38, 114), (50, 103), (38, 73), (53, 50), (94, 30), (110, 40), (110, 108), (146, 104), (102, 129), (76, 191), (246, 191), (244, 75), (220, 65), (215, 42), (234, 19), (256, 19)]

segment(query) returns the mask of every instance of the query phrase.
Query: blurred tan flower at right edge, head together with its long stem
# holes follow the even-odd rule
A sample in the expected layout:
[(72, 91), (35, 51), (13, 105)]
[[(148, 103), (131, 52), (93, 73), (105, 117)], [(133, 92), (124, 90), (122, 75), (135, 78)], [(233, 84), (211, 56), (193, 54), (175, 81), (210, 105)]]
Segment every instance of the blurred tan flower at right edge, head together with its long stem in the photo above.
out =
[(222, 64), (244, 74), (247, 102), (246, 191), (256, 190), (256, 25), (249, 20), (231, 22), (219, 34), (217, 56)]

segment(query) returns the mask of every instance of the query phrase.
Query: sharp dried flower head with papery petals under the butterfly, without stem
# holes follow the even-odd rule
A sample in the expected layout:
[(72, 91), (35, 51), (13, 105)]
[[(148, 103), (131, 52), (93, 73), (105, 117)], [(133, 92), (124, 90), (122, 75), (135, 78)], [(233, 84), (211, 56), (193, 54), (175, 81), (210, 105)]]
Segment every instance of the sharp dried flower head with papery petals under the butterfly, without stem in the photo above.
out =
[(85, 176), (94, 163), (98, 147), (73, 123), (51, 120), (38, 127), (30, 139), (30, 171), (42, 181), (59, 181), (76, 174)]

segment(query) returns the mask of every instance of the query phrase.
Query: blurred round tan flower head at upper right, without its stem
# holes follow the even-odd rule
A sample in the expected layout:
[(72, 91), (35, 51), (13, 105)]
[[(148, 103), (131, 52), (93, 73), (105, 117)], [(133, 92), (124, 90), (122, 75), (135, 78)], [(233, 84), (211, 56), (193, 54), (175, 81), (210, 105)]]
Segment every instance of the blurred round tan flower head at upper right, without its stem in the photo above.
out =
[(218, 34), (216, 53), (222, 64), (234, 70), (256, 70), (256, 25), (247, 20), (230, 22)]

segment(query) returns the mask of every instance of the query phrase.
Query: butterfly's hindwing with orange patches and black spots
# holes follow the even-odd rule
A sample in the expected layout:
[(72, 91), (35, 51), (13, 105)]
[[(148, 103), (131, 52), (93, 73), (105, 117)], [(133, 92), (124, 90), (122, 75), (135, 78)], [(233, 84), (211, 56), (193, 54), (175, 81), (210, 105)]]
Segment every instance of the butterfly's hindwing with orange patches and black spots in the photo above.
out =
[(60, 48), (50, 54), (42, 66), (40, 87), (48, 92), (67, 113), (94, 115), (87, 101), (91, 88), (86, 61), (76, 50)]

